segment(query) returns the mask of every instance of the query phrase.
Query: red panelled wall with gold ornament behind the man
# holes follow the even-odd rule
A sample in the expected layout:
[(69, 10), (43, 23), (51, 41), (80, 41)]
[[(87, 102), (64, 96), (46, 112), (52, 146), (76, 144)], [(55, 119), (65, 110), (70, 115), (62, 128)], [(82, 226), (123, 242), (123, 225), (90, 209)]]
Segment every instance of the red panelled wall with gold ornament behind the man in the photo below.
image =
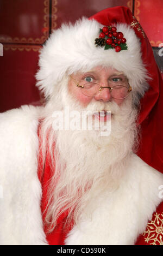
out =
[(89, 17), (104, 8), (124, 5), (133, 11), (151, 41), (161, 69), (161, 3), (162, 0), (1, 0), (0, 112), (23, 104), (38, 104), (35, 73), (42, 44), (62, 22)]

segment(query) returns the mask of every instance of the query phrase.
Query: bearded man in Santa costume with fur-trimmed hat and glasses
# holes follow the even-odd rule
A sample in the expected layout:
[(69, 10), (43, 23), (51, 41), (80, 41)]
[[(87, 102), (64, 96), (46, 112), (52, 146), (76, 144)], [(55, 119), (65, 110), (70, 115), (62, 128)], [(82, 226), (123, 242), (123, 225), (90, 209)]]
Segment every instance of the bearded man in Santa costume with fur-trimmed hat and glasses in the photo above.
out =
[(39, 65), (45, 105), (1, 114), (1, 244), (162, 244), (162, 81), (139, 22), (62, 25)]

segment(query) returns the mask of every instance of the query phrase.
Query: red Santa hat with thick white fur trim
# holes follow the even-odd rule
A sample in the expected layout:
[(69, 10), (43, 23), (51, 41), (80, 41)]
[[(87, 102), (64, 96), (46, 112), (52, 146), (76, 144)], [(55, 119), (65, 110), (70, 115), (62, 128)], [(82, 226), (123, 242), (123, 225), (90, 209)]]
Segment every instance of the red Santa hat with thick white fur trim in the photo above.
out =
[[(117, 32), (123, 33), (126, 50), (116, 52), (114, 47), (107, 50), (104, 46), (96, 47), (95, 39), (104, 26), (114, 26)], [(54, 31), (40, 53), (37, 86), (49, 98), (54, 86), (65, 75), (100, 65), (123, 72), (133, 88), (134, 99), (143, 97), (139, 117), (142, 127), (139, 156), (162, 171), (162, 108), (159, 101), (162, 79), (145, 32), (128, 8), (104, 9), (90, 19), (83, 17), (74, 25), (64, 24)]]

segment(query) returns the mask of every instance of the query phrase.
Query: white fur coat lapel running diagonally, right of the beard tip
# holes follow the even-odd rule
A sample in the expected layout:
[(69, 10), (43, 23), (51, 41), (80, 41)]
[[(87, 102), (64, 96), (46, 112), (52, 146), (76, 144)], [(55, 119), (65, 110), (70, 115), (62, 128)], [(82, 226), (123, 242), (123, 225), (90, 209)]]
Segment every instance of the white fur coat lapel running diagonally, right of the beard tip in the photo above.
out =
[(134, 245), (156, 206), (163, 175), (133, 155), (126, 177), (112, 194), (96, 198), (91, 219), (74, 226), (66, 245)]

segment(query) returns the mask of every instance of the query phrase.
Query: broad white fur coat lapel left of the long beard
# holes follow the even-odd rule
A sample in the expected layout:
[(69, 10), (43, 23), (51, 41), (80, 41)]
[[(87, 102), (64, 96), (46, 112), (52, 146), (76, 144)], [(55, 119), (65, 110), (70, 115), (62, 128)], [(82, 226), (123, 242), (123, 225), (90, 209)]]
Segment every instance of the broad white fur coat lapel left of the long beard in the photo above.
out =
[(37, 177), (40, 108), (23, 106), (0, 115), (0, 244), (46, 245)]

